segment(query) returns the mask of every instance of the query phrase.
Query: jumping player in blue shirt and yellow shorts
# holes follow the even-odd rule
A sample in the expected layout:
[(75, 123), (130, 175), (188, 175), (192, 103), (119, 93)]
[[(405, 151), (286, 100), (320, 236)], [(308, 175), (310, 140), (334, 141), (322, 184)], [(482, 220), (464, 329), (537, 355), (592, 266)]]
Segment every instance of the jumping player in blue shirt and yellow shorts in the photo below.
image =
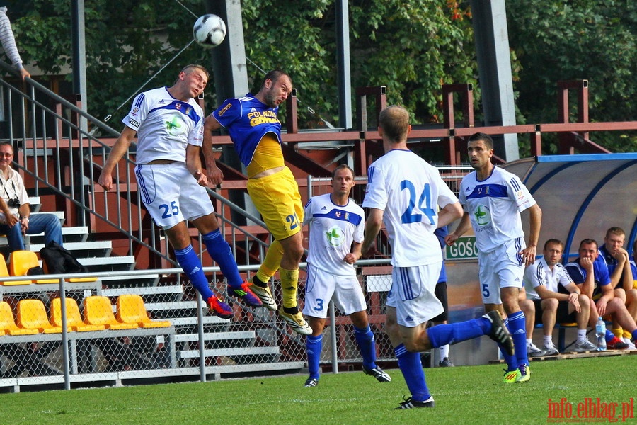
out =
[(299, 334), (309, 335), (311, 327), (299, 311), (297, 287), (299, 262), (303, 255), (303, 205), (299, 186), (285, 166), (281, 149), (279, 105), (292, 92), (292, 79), (280, 69), (265, 75), (257, 94), (226, 99), (204, 122), (203, 151), (207, 176), (221, 183), (222, 172), (212, 154), (212, 131), (224, 127), (248, 174), (248, 194), (263, 217), (275, 241), (270, 245), (263, 265), (253, 278), (251, 290), (269, 310), (277, 305), (268, 288), (268, 280), (279, 269), (283, 306), (279, 315)]

